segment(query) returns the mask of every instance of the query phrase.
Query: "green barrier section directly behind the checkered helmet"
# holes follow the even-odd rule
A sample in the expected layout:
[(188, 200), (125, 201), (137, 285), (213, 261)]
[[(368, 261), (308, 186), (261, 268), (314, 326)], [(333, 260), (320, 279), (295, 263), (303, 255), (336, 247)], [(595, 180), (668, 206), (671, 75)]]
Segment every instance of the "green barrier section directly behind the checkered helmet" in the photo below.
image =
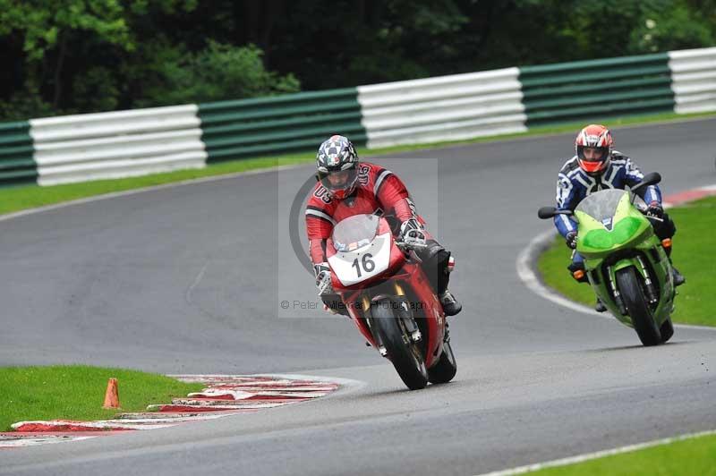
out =
[(354, 88), (199, 105), (209, 162), (314, 150), (334, 133), (365, 143)]

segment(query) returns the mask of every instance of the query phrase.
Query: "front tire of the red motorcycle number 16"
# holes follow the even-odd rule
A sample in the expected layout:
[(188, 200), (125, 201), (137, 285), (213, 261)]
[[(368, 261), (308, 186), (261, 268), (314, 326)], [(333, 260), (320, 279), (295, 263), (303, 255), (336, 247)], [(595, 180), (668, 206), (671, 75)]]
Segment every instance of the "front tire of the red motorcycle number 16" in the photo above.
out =
[(371, 305), (371, 328), (380, 334), (385, 345), (388, 359), (396, 368), (397, 374), (411, 390), (419, 390), (428, 385), (428, 370), (420, 347), (410, 340), (401, 319), (393, 313), (394, 307), (388, 300)]

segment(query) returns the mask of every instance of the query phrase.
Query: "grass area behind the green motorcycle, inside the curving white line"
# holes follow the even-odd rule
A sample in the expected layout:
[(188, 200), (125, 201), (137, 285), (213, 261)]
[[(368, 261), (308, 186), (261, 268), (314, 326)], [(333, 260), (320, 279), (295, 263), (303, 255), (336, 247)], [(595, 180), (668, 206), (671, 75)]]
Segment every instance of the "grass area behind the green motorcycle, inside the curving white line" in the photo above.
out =
[[(672, 259), (686, 276), (678, 288), (676, 311), (672, 319), (683, 324), (716, 326), (716, 294), (713, 290), (713, 229), (716, 228), (716, 197), (669, 209), (677, 225)], [(595, 298), (589, 285), (580, 285), (569, 276), (571, 251), (561, 237), (540, 256), (537, 268), (544, 283), (569, 299), (588, 306)]]

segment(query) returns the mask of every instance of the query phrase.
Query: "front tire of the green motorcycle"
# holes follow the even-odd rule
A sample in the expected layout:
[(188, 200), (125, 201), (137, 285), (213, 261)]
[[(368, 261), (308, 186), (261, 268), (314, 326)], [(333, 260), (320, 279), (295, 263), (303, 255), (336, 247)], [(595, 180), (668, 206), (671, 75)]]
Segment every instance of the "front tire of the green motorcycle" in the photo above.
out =
[(646, 303), (644, 289), (636, 277), (635, 268), (619, 269), (617, 285), (639, 340), (647, 346), (661, 344), (659, 327), (656, 326), (652, 310)]

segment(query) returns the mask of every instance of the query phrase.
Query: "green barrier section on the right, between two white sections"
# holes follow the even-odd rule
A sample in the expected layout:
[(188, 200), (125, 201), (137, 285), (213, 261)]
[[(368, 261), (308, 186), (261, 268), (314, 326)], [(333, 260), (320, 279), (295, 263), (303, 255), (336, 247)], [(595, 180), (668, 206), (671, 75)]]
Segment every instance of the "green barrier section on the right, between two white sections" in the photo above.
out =
[(664, 53), (520, 68), (527, 125), (673, 111), (668, 59)]

